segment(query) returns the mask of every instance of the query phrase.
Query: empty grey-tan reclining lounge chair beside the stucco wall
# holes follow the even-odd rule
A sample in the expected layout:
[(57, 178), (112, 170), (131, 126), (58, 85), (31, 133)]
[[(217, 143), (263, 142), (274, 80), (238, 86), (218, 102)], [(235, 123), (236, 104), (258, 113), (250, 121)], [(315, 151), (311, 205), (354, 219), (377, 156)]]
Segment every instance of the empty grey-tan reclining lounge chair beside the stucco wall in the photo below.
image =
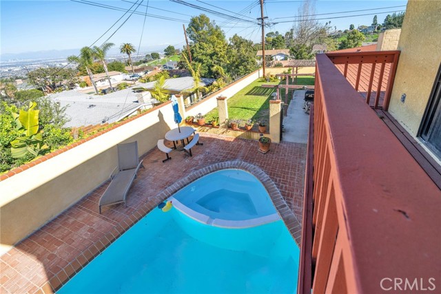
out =
[[(105, 189), (103, 196), (99, 199), (99, 213), (101, 207), (124, 203), (127, 193), (132, 186), (132, 182), (136, 178), (136, 172), (139, 167), (144, 167), (143, 162), (138, 158), (138, 143), (126, 143), (117, 145), (118, 148), (118, 173), (111, 176), (112, 181), (109, 187)], [(112, 174), (114, 174), (114, 171)]]

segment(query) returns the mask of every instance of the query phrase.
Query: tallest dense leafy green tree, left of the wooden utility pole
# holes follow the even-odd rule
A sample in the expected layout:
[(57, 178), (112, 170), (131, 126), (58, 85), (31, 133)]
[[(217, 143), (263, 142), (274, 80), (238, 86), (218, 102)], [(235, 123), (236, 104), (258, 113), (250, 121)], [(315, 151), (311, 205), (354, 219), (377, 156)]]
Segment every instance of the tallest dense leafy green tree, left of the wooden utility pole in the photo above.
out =
[(227, 64), (228, 44), (224, 32), (205, 14), (192, 17), (186, 31), (192, 41), (190, 45), (192, 61), (200, 64), (202, 76), (214, 77), (215, 73), (212, 70), (214, 65), (225, 67)]

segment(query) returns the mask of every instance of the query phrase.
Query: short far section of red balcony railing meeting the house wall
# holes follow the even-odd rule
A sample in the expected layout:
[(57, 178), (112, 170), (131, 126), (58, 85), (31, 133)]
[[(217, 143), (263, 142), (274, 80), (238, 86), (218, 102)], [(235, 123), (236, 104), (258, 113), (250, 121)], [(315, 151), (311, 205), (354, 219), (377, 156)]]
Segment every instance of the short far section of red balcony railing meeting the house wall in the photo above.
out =
[(400, 51), (336, 52), (326, 54), (366, 103), (387, 110)]

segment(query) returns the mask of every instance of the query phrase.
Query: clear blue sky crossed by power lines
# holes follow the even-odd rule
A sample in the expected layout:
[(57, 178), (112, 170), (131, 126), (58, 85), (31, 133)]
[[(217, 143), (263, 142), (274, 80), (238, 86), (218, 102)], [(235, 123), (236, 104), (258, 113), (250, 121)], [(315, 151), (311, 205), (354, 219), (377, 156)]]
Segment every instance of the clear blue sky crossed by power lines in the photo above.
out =
[[(79, 0), (81, 1), (81, 0)], [(107, 0), (96, 1), (107, 6), (114, 6), (127, 10), (136, 0)], [(139, 0), (141, 1), (141, 0)], [(258, 0), (247, 1), (212, 1), (212, 0), (185, 0), (197, 6), (203, 6), (212, 10), (232, 14), (232, 12), (241, 13), (244, 17), (240, 19), (252, 20), (260, 17), (260, 6)], [(207, 14), (210, 19), (221, 25), (227, 37), (237, 33), (246, 39), (252, 39), (255, 42), (260, 40), (260, 28), (252, 23), (245, 23), (237, 19), (225, 20), (207, 12), (202, 12), (194, 8), (183, 6), (179, 3), (166, 0), (144, 0), (141, 6), (136, 10), (145, 12), (146, 6), (148, 14), (156, 14), (164, 17), (171, 17), (178, 21), (156, 19), (147, 17), (145, 21), (144, 32), (141, 41), (141, 52), (150, 50), (160, 50), (167, 45), (175, 45), (176, 48), (182, 48), (184, 45), (184, 36), (182, 25), (187, 27), (191, 16), (201, 13)], [(210, 4), (212, 6), (207, 5)], [(253, 5), (254, 4), (254, 5)], [(291, 0), (265, 0), (265, 16), (269, 17), (270, 22), (279, 22), (270, 28), (265, 28), (266, 32), (278, 31), (285, 33), (292, 27), (292, 22), (280, 23), (280, 21), (290, 21), (292, 19), (276, 19), (278, 17), (295, 17), (301, 1)], [(391, 6), (405, 6), (407, 1), (315, 1), (316, 14), (330, 12), (346, 12), (350, 10), (366, 10), (373, 8), (387, 8)], [(217, 6), (213, 7), (213, 6)], [(250, 9), (250, 7), (252, 7)], [(165, 12), (155, 8), (170, 10)], [(225, 10), (220, 10), (223, 8)], [(248, 8), (244, 10), (244, 8)], [(226, 10), (229, 10), (226, 11)], [(362, 12), (349, 12), (340, 14), (326, 14), (317, 16), (317, 18), (331, 18), (350, 16), (354, 14), (377, 14), (378, 23), (382, 23), (387, 14), (393, 11), (405, 10), (405, 7), (376, 9)], [(172, 13), (174, 12), (174, 13)], [(389, 12), (389, 13), (384, 13)], [(33, 52), (41, 50), (66, 50), (81, 48), (85, 45), (92, 45), (96, 39), (107, 31), (122, 15), (123, 11), (109, 10), (106, 8), (86, 5), (74, 1), (0, 1), (0, 33), (1, 47), (0, 53), (20, 53)], [(127, 17), (128, 14), (125, 15)], [(237, 16), (237, 15), (236, 15)], [(123, 19), (125, 19), (125, 17)], [(370, 25), (373, 15), (347, 17), (340, 19), (322, 19), (321, 22), (331, 21), (331, 25), (337, 27), (337, 30), (345, 30), (349, 25)], [(139, 48), (141, 32), (143, 30), (144, 17), (133, 14), (132, 17), (118, 30), (110, 39), (112, 43), (120, 45), (121, 43), (132, 43)], [(101, 45), (110, 34), (121, 24), (117, 23), (102, 39), (96, 43)]]

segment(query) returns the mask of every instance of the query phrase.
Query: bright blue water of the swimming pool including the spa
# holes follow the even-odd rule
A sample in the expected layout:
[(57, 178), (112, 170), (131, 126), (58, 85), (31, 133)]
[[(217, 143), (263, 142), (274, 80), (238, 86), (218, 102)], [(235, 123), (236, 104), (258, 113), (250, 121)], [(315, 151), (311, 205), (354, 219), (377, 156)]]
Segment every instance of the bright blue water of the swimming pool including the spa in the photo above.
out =
[[(218, 171), (185, 188), (191, 191), (193, 187), (193, 193), (178, 191), (172, 199), (187, 211), (174, 207), (164, 213), (154, 209), (57, 293), (295, 293), (299, 249), (283, 221), (279, 218), (256, 226), (232, 224), (243, 224), (252, 216), (270, 216), (275, 211), (267, 194), (269, 209), (263, 207), (267, 200), (256, 196), (260, 192), (255, 187), (260, 182), (247, 187), (250, 182), (245, 180), (243, 190), (236, 189), (240, 186), (238, 178), (249, 176), (254, 178), (245, 171)], [(223, 189), (234, 192), (224, 202), (225, 191), (213, 189), (194, 195), (199, 184), (222, 182), (222, 177), (231, 184), (223, 185)], [(184, 190), (187, 196), (181, 193)], [(236, 211), (241, 215), (238, 219), (232, 213), (237, 207), (245, 209)], [(188, 211), (193, 209), (196, 214), (202, 214), (203, 209), (213, 211), (207, 218), (222, 219), (234, 228), (189, 216)]]

